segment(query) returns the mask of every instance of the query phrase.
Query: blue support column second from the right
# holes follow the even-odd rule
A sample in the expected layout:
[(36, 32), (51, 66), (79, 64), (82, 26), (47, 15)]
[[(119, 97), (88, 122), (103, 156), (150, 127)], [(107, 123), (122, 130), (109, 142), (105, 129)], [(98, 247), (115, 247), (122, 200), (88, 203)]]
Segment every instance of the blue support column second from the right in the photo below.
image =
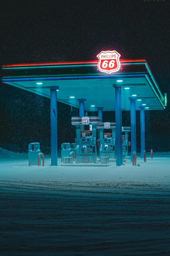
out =
[(136, 106), (135, 98), (130, 99), (131, 106), (131, 161), (133, 161), (133, 152), (136, 152)]

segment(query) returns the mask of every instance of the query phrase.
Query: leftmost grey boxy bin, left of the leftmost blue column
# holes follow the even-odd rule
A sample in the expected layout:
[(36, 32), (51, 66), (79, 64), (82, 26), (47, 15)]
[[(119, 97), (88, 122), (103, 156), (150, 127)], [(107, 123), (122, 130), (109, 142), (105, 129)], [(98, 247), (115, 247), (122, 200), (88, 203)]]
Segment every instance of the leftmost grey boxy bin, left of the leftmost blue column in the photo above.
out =
[[(38, 165), (38, 154), (41, 153), (39, 143), (30, 143), (28, 145), (28, 163), (30, 165)], [(41, 165), (41, 163), (40, 163)]]

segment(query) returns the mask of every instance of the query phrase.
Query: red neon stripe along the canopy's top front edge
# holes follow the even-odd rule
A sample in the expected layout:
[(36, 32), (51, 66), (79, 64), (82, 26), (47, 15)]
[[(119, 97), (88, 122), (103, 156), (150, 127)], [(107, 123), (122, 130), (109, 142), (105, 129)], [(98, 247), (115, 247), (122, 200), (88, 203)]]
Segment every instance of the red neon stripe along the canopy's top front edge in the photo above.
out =
[[(120, 62), (141, 62), (145, 59), (133, 59), (133, 60), (120, 60)], [(47, 65), (70, 65), (70, 64), (97, 64), (98, 60), (86, 60), (86, 61), (62, 61), (62, 62), (42, 62), (42, 63), (19, 63), (19, 64), (6, 64), (2, 67), (21, 67), (21, 66), (47, 66)]]

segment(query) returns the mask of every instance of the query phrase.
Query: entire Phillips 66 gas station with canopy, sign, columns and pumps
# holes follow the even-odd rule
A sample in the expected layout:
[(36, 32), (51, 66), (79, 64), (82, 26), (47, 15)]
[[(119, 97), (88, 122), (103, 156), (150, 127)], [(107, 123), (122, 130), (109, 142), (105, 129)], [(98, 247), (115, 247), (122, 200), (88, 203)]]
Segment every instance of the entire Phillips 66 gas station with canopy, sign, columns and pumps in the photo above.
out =
[[(145, 152), (145, 111), (164, 110), (161, 92), (145, 59), (120, 59), (116, 51), (102, 51), (98, 60), (6, 64), (3, 83), (50, 98), (51, 165), (57, 159), (57, 101), (79, 108), (70, 122), (75, 142), (62, 144), (60, 165), (120, 166), (136, 152), (136, 117), (140, 110), (141, 158)], [(88, 116), (98, 111), (98, 116)], [(103, 120), (102, 111), (115, 111), (115, 120)], [(130, 111), (131, 126), (122, 124), (121, 111)], [(39, 145), (29, 145), (30, 165), (38, 163)], [(131, 157), (128, 151), (131, 149)], [(33, 163), (33, 162), (34, 163)], [(116, 163), (115, 163), (116, 162)]]

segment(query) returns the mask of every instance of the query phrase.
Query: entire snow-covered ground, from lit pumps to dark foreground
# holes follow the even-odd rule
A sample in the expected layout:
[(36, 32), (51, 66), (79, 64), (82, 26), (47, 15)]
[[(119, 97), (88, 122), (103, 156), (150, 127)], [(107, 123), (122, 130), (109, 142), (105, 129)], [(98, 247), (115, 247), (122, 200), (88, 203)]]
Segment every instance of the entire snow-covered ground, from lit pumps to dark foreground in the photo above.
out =
[(0, 255), (170, 255), (170, 155), (120, 167), (0, 159)]

